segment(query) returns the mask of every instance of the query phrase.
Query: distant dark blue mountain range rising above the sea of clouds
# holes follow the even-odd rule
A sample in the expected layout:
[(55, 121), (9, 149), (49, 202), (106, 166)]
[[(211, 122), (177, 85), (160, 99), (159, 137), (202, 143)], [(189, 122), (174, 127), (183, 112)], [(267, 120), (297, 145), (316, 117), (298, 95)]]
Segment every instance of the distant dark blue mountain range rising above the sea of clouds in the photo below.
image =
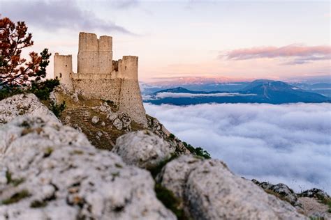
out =
[(144, 102), (152, 104), (203, 104), (203, 103), (270, 103), (330, 102), (330, 97), (312, 92), (314, 88), (328, 88), (331, 85), (312, 85), (307, 90), (283, 81), (258, 79), (231, 91), (191, 91), (177, 87), (143, 95)]

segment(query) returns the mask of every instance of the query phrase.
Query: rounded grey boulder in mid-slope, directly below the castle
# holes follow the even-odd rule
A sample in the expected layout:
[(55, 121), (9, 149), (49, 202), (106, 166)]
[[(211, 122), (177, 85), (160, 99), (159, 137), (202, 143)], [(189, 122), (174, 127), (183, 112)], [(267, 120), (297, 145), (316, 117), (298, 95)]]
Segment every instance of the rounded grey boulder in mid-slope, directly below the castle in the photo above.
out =
[(171, 157), (175, 149), (149, 131), (131, 132), (120, 136), (112, 152), (121, 156), (126, 164), (140, 168), (153, 168)]

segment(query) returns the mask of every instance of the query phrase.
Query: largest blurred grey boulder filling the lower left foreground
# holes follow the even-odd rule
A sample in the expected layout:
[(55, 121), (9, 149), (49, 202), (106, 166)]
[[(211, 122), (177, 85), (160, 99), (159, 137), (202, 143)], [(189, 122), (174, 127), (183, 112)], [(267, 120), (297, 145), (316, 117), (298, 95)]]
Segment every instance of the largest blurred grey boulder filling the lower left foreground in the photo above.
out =
[(149, 172), (51, 116), (0, 127), (0, 219), (175, 219)]

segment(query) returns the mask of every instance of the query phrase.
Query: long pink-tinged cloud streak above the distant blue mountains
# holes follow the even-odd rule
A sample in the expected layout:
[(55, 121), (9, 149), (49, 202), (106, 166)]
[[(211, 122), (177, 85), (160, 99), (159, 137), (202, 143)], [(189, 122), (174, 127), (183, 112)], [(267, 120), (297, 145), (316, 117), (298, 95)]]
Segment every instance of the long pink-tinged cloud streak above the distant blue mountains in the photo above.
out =
[[(219, 58), (223, 58), (220, 55)], [(286, 64), (302, 64), (309, 61), (328, 60), (331, 58), (331, 47), (288, 45), (285, 47), (252, 47), (243, 49), (234, 49), (228, 52), (225, 57), (229, 60), (247, 60), (253, 58), (294, 58)]]

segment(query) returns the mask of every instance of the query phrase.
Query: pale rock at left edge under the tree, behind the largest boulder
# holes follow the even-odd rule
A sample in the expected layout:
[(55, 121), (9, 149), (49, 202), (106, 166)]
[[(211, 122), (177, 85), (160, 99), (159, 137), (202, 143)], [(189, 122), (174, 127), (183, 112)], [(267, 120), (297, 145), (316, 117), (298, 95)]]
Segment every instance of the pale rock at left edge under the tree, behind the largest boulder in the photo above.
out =
[(6, 124), (17, 116), (50, 116), (59, 122), (57, 117), (42, 104), (32, 93), (19, 94), (0, 101), (0, 125)]

